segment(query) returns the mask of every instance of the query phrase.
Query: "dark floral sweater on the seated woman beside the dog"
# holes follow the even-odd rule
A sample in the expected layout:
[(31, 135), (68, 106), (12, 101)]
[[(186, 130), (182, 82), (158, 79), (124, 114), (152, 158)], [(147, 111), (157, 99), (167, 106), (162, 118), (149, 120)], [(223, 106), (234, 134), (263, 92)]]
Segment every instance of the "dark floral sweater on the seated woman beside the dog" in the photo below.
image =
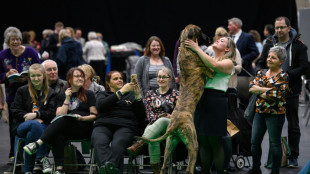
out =
[(166, 113), (162, 107), (164, 103), (169, 103), (174, 108), (179, 98), (179, 91), (169, 89), (165, 94), (159, 94), (158, 89), (149, 90), (144, 99), (145, 112), (150, 124), (159, 119), (159, 115)]

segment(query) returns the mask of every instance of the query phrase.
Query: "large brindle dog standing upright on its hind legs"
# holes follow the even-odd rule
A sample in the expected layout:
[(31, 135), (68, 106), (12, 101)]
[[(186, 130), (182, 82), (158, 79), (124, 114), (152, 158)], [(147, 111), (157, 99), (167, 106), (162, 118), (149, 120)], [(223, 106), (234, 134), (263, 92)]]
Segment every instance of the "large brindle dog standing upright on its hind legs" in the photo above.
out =
[(170, 157), (180, 141), (185, 144), (188, 150), (189, 163), (186, 173), (194, 173), (194, 165), (196, 163), (198, 151), (197, 135), (194, 125), (194, 112), (196, 105), (202, 96), (206, 77), (213, 78), (215, 72), (206, 67), (196, 53), (185, 48), (184, 41), (186, 39), (196, 41), (197, 39), (200, 40), (201, 37), (201, 28), (196, 25), (187, 25), (181, 32), (181, 44), (178, 55), (181, 69), (179, 99), (170, 116), (171, 122), (166, 133), (157, 139), (137, 137), (146, 142), (158, 142), (168, 137), (161, 174), (165, 173), (167, 158)]

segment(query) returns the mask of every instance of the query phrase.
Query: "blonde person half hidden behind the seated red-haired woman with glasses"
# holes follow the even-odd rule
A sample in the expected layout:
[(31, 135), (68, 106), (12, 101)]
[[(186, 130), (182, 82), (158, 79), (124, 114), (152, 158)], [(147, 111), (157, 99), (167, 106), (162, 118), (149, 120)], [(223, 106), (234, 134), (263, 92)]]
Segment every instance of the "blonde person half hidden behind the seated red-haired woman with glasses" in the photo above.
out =
[(96, 72), (92, 66), (83, 64), (78, 66), (78, 68), (81, 68), (81, 70), (85, 73), (84, 89), (93, 91), (95, 96), (97, 96), (100, 91), (105, 90), (102, 85), (99, 85), (100, 77), (96, 75)]

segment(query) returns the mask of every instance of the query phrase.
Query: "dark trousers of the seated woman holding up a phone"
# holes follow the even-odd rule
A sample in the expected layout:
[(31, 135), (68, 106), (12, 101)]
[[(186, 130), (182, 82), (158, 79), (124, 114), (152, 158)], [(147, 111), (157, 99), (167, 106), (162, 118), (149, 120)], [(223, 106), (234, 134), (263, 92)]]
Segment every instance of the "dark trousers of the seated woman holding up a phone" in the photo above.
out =
[(109, 161), (123, 173), (126, 147), (132, 144), (136, 131), (127, 127), (109, 125), (97, 126), (92, 133), (92, 145), (98, 166)]

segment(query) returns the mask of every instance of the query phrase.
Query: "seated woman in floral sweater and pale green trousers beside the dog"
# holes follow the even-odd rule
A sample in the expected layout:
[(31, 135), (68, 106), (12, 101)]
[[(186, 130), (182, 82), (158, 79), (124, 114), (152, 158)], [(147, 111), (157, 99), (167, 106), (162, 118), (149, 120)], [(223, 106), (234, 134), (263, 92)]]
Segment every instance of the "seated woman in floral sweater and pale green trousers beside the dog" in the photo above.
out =
[[(179, 91), (170, 88), (172, 77), (172, 71), (169, 68), (160, 68), (157, 71), (157, 84), (159, 88), (149, 90), (143, 99), (149, 121), (149, 125), (142, 135), (143, 137), (154, 139), (166, 132), (170, 123), (170, 114), (179, 97)], [(137, 155), (144, 145), (145, 142), (139, 140), (127, 148), (127, 151), (131, 155)], [(149, 155), (153, 173), (160, 173), (160, 142), (149, 143)]]

